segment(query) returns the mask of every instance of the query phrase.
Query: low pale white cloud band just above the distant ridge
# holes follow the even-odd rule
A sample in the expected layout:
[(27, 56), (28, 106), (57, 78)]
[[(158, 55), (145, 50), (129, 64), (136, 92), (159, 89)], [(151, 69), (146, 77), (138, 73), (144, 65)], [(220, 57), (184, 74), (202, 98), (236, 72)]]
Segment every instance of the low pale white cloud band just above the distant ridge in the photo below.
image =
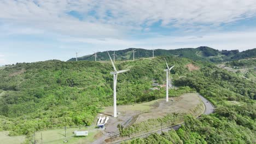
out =
[[(63, 43), (85, 43), (97, 47), (101, 51), (111, 49), (120, 50), (128, 47), (139, 47), (144, 49), (178, 49), (187, 47), (210, 46), (218, 50), (240, 51), (256, 47), (256, 31), (250, 32), (222, 32), (204, 34), (201, 36), (165, 36), (158, 35), (154, 38), (144, 39), (88, 39), (88, 38), (65, 38), (60, 39)], [(252, 47), (255, 46), (255, 47)]]

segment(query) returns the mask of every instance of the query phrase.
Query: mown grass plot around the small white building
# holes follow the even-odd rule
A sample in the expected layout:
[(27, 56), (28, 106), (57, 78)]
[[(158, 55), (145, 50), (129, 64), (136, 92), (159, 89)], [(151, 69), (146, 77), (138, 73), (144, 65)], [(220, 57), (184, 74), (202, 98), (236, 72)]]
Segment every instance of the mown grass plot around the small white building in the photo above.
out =
[(41, 133), (43, 137), (43, 143), (48, 144), (57, 144), (63, 143), (64, 140), (68, 140), (68, 143), (91, 143), (94, 141), (95, 135), (100, 132), (98, 129), (94, 129), (94, 127), (81, 127), (80, 130), (88, 130), (89, 135), (86, 137), (75, 137), (73, 131), (79, 130), (79, 128), (67, 128), (65, 137), (65, 129), (53, 129), (53, 130), (45, 130), (38, 131), (36, 133), (36, 141), (37, 143), (41, 142)]

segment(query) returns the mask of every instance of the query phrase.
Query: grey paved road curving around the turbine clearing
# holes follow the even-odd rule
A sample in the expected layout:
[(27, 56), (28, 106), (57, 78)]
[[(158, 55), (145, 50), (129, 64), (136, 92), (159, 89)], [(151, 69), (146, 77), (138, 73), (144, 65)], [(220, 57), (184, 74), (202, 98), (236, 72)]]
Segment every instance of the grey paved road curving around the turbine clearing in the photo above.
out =
[[(205, 112), (203, 112), (203, 114), (204, 115), (210, 115), (211, 113), (213, 113), (214, 112), (214, 106), (211, 104), (211, 102), (208, 101), (206, 98), (202, 97), (202, 95), (199, 95), (199, 97), (201, 98), (203, 104), (205, 104)], [(153, 133), (161, 134), (162, 133), (161, 131), (169, 131), (171, 129), (177, 130), (181, 127), (181, 124), (177, 124), (177, 125), (174, 125), (172, 127), (165, 128), (165, 129), (162, 129), (162, 130), (161, 129), (160, 130), (155, 130), (155, 131), (152, 131), (152, 132), (149, 132), (149, 133), (146, 133), (146, 134), (138, 135), (138, 136), (131, 137), (131, 138), (128, 138), (128, 139), (125, 139), (125, 140), (116, 141), (116, 142), (113, 142), (113, 143), (121, 143), (122, 141), (127, 141), (127, 140), (131, 140), (131, 139), (134, 139), (134, 138), (143, 138), (143, 137), (147, 137), (148, 135), (153, 134)]]

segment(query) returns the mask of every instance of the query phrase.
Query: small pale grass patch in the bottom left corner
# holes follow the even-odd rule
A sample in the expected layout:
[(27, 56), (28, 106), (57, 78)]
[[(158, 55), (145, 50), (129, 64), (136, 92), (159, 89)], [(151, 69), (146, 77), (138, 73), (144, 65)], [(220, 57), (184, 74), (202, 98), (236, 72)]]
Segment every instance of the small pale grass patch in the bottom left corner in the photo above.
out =
[(25, 136), (8, 136), (8, 131), (0, 131), (0, 143), (20, 144), (25, 138)]

